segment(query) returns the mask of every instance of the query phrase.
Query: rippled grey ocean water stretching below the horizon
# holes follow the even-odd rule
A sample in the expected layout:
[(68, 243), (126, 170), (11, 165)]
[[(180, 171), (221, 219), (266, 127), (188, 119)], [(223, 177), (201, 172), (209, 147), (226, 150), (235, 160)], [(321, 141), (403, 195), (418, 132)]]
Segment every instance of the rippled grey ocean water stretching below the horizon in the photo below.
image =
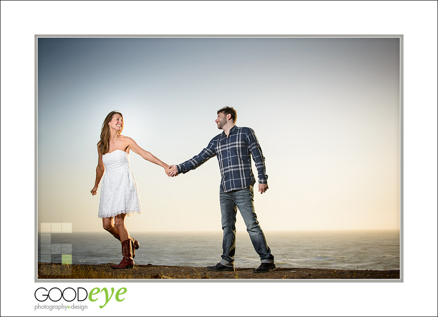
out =
[[(202, 267), (215, 265), (222, 254), (222, 232), (130, 232), (140, 243), (135, 264)], [(330, 269), (400, 269), (399, 230), (265, 232), (277, 267)], [(110, 233), (38, 235), (38, 262), (118, 264), (121, 244)], [(41, 243), (43, 242), (43, 243)], [(50, 246), (49, 246), (50, 245)], [(246, 231), (237, 232), (236, 267), (257, 267), (259, 257)]]

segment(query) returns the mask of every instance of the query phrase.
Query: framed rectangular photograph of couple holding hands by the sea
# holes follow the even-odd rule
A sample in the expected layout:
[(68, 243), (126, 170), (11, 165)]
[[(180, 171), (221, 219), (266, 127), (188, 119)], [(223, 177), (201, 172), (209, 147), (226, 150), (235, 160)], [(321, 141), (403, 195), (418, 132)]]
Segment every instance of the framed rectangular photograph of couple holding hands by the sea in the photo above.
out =
[(36, 45), (37, 279), (402, 281), (401, 35)]

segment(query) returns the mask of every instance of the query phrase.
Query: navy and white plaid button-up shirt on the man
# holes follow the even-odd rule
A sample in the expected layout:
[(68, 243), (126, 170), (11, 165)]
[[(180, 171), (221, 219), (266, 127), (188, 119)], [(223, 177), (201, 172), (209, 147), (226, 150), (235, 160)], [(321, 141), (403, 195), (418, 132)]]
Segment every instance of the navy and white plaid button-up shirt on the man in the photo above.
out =
[(222, 179), (220, 186), (228, 193), (244, 189), (256, 183), (251, 168), (251, 155), (256, 162), (258, 182), (268, 183), (266, 175), (265, 157), (257, 141), (253, 129), (237, 127), (230, 129), (228, 138), (225, 131), (214, 137), (200, 154), (178, 165), (178, 173), (187, 173), (194, 170), (208, 159), (217, 156)]

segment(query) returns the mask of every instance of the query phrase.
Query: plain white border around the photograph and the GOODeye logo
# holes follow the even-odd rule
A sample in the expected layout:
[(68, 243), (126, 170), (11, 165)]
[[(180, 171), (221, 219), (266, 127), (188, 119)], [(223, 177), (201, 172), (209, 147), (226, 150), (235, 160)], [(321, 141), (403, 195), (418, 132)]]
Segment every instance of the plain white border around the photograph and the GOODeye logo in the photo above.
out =
[[(1, 315), (437, 316), (436, 29), (437, 1), (1, 1)], [(404, 282), (35, 283), (34, 35), (54, 34), (403, 35)], [(128, 292), (34, 311), (43, 286)]]

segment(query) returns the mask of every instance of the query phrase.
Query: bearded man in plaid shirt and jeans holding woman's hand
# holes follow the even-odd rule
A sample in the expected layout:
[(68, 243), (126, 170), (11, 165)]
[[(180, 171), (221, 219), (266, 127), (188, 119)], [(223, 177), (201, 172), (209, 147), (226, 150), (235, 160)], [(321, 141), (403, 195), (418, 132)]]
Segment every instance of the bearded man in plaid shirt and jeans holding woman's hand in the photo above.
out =
[(223, 132), (214, 137), (201, 153), (180, 165), (172, 165), (179, 173), (194, 170), (208, 159), (217, 156), (222, 176), (219, 189), (220, 212), (222, 215), (223, 241), (222, 260), (215, 266), (207, 266), (212, 271), (234, 271), (236, 251), (236, 214), (239, 209), (251, 242), (260, 256), (261, 264), (255, 273), (268, 272), (275, 268), (274, 256), (266, 243), (254, 211), (254, 190), (256, 179), (251, 168), (251, 155), (258, 172), (258, 191), (268, 190), (265, 158), (256, 135), (251, 128), (236, 126), (237, 112), (232, 107), (218, 110), (215, 122)]

